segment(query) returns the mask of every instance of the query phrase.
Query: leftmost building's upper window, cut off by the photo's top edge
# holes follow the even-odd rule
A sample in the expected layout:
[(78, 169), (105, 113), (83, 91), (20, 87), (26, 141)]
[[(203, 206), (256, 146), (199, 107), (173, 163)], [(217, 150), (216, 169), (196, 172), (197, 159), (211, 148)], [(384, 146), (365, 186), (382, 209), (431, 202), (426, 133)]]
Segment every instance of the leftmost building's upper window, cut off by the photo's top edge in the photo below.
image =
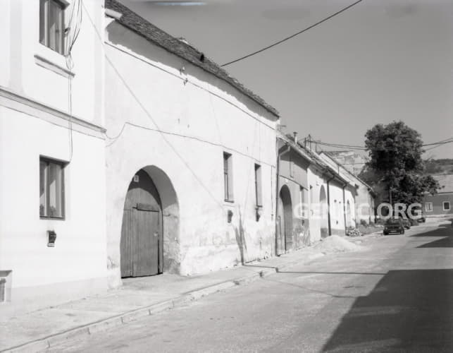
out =
[(66, 1), (39, 0), (39, 42), (64, 54)]

